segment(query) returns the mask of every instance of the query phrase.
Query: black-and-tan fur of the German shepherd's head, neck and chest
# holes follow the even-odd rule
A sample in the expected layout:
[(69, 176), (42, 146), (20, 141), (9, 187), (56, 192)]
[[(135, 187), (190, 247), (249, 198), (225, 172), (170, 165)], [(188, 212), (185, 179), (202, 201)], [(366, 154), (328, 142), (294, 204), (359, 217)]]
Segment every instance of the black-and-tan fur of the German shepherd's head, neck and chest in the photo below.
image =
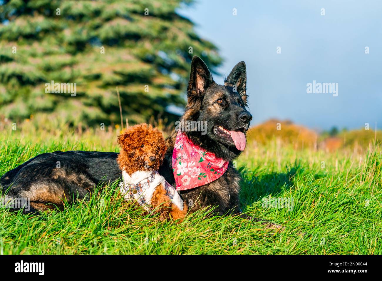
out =
[[(236, 91), (234, 86), (236, 85)], [(180, 192), (183, 200), (189, 203), (191, 211), (206, 206), (217, 206), (215, 211), (240, 213), (240, 175), (232, 166), (232, 160), (241, 151), (232, 142), (215, 134), (215, 127), (222, 126), (230, 131), (246, 132), (252, 115), (245, 109), (247, 104), (246, 67), (239, 62), (225, 79), (224, 85), (214, 82), (205, 63), (198, 57), (191, 62), (191, 73), (187, 89), (188, 102), (183, 119), (207, 123), (207, 133), (186, 132), (194, 144), (215, 153), (219, 158), (229, 161), (227, 171), (217, 180), (202, 187)], [(218, 103), (222, 99), (222, 103)], [(165, 163), (159, 173), (170, 184), (175, 184), (172, 174), (172, 151), (176, 132), (166, 140)]]

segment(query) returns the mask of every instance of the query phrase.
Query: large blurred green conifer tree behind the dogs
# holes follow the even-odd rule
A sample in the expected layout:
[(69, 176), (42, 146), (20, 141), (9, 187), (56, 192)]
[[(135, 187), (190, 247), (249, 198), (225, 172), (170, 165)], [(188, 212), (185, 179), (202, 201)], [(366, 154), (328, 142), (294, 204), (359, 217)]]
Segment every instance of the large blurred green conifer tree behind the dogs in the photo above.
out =
[[(0, 115), (31, 115), (71, 125), (124, 118), (173, 120), (184, 106), (189, 63), (214, 71), (217, 48), (179, 15), (182, 0), (0, 0)], [(76, 83), (76, 94), (47, 84)]]

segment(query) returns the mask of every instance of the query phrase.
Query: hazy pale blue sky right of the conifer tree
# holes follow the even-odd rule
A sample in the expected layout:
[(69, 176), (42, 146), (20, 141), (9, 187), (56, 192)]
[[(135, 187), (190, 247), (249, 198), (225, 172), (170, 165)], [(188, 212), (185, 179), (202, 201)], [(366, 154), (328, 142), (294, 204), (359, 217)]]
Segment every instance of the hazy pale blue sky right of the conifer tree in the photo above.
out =
[[(382, 1), (199, 0), (179, 12), (219, 47), (222, 76), (246, 62), (253, 125), (276, 117), (317, 130), (382, 128)], [(338, 96), (308, 94), (313, 80), (338, 83)]]

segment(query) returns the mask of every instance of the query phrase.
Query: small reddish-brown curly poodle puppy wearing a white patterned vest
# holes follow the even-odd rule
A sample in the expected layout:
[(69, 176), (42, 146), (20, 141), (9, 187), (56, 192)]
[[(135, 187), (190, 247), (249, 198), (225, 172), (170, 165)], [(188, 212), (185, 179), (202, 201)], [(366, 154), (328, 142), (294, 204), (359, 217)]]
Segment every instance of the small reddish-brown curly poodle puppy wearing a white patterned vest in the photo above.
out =
[(120, 191), (126, 200), (136, 200), (149, 213), (160, 213), (162, 219), (182, 219), (187, 206), (178, 192), (157, 170), (166, 152), (159, 130), (146, 123), (126, 129), (118, 136), (121, 151), (117, 162), (122, 170)]

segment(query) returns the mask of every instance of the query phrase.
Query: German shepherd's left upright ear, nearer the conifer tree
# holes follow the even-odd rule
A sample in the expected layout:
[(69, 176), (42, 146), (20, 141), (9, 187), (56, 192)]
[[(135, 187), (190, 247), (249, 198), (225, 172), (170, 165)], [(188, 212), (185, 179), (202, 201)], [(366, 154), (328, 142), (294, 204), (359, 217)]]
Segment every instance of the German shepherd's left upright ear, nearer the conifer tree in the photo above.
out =
[(212, 83), (212, 75), (203, 60), (194, 56), (191, 62), (190, 80), (188, 82), (188, 98), (202, 97), (206, 88)]

